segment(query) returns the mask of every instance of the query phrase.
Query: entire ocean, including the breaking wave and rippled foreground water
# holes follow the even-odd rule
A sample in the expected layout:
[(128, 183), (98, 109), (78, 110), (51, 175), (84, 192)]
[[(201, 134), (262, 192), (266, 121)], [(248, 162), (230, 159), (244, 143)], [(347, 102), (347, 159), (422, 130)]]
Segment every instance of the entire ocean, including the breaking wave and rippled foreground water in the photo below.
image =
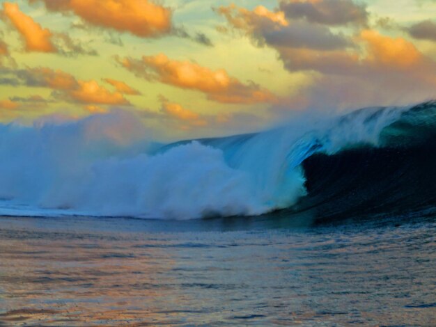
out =
[(0, 125), (0, 326), (435, 326), (435, 102), (171, 144), (129, 119)]

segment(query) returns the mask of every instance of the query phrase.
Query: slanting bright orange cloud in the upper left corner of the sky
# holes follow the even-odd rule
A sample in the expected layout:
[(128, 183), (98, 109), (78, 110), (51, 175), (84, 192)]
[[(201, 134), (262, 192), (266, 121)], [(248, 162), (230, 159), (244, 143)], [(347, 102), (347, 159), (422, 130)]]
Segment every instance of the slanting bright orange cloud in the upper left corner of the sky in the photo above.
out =
[(56, 52), (50, 40), (52, 32), (43, 29), (40, 24), (20, 11), (17, 3), (3, 3), (3, 13), (10, 19), (15, 29), (22, 35), (26, 42), (26, 51)]

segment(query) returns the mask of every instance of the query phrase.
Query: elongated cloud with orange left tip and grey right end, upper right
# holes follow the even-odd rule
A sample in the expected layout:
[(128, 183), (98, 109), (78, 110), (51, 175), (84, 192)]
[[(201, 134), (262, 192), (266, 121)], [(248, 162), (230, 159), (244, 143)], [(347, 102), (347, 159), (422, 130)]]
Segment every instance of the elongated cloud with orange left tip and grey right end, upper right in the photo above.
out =
[(247, 35), (256, 45), (307, 49), (341, 49), (352, 46), (342, 34), (309, 22), (288, 22), (282, 11), (271, 12), (263, 6), (250, 11), (235, 5), (221, 6), (215, 11), (223, 15), (231, 28)]

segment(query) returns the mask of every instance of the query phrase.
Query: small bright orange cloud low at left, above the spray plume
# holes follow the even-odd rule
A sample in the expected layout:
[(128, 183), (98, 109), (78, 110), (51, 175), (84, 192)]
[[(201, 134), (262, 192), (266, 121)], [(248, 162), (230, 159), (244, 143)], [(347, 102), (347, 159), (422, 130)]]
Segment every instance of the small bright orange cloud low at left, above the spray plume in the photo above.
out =
[(68, 95), (77, 102), (89, 104), (129, 104), (119, 92), (110, 92), (96, 81), (78, 81), (79, 87)]

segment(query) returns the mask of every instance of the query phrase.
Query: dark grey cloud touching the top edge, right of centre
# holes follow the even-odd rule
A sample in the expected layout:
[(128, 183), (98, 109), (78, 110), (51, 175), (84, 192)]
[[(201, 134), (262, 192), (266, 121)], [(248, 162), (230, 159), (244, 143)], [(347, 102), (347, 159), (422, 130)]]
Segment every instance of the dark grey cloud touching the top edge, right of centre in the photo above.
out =
[(281, 0), (279, 8), (287, 18), (311, 23), (366, 25), (368, 21), (366, 6), (352, 0)]

